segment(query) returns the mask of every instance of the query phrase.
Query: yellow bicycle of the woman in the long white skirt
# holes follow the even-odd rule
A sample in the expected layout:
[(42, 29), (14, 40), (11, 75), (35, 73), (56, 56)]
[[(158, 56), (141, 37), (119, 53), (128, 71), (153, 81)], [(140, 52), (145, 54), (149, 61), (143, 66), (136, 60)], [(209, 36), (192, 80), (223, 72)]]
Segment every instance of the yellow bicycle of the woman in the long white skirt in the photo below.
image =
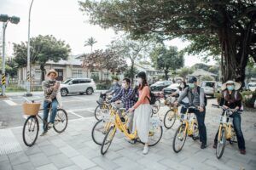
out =
[[(102, 148), (101, 148), (102, 155), (105, 155), (107, 153), (108, 148), (113, 141), (113, 137), (117, 129), (119, 129), (120, 132), (124, 133), (125, 137), (127, 137), (128, 139), (131, 139), (131, 140), (137, 139), (137, 130), (135, 130), (134, 133), (128, 133), (127, 126), (126, 126), (128, 121), (127, 114), (125, 114), (125, 122), (122, 122), (119, 117), (119, 114), (117, 114), (118, 108), (116, 108), (115, 105), (112, 105), (112, 107), (113, 107), (112, 114), (114, 114), (114, 119), (110, 121), (111, 122), (110, 127), (108, 129), (108, 132), (105, 135), (105, 138), (103, 139)], [(163, 128), (161, 126), (160, 120), (158, 119), (159, 121), (156, 121), (156, 117), (152, 118), (152, 120), (155, 120), (155, 121), (151, 122), (152, 126), (149, 128), (148, 146), (153, 146), (157, 144), (160, 141), (163, 134)], [(143, 142), (141, 143), (143, 144)]]

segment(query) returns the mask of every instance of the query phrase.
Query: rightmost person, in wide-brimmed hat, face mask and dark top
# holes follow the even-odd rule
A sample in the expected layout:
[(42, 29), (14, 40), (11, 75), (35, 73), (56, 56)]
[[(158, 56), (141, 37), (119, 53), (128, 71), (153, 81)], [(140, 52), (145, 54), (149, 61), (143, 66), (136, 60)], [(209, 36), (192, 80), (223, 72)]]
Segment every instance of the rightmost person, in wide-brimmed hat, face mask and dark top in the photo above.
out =
[[(220, 99), (219, 105), (222, 105), (225, 109), (230, 108), (233, 110), (233, 125), (236, 132), (236, 138), (238, 143), (238, 148), (242, 155), (246, 154), (245, 141), (243, 134), (241, 132), (241, 94), (238, 90), (241, 88), (241, 84), (238, 82), (228, 81), (222, 85), (222, 97)], [(217, 148), (218, 131), (216, 133), (213, 148)]]

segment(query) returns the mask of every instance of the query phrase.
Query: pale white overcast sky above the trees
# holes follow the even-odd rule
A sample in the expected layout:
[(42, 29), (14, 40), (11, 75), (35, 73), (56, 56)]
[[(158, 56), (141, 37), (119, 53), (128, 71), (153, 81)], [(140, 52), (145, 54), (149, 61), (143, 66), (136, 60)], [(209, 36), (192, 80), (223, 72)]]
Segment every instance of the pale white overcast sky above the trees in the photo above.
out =
[[(0, 14), (20, 17), (20, 23), (9, 23), (6, 29), (6, 53), (11, 55), (12, 43), (27, 41), (28, 11), (31, 0), (0, 0)], [(96, 38), (94, 49), (106, 48), (116, 34), (112, 29), (104, 30), (100, 26), (90, 25), (88, 16), (79, 10), (78, 0), (34, 0), (31, 14), (30, 37), (53, 35), (64, 40), (72, 48), (71, 54), (84, 54), (90, 52), (90, 47), (84, 47), (89, 37)], [(2, 23), (1, 23), (2, 25)], [(2, 33), (2, 26), (1, 26)], [(2, 40), (1, 40), (2, 41)], [(189, 42), (174, 39), (168, 45), (183, 49)], [(185, 55), (185, 66), (201, 63), (198, 56)], [(213, 65), (210, 61), (207, 65)]]

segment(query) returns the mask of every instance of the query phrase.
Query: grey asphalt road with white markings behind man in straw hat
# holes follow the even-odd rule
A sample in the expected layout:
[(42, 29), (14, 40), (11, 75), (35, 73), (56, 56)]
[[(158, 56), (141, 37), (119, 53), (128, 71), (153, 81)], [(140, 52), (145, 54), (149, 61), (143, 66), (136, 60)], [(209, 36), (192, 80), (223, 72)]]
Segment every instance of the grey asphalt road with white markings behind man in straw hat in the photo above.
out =
[[(62, 97), (63, 107), (67, 110), (70, 119), (94, 116), (96, 99), (99, 94), (79, 95), (73, 94)], [(23, 118), (22, 103), (26, 100), (43, 101), (42, 93), (34, 94), (32, 97), (10, 94), (7, 99), (0, 99), (0, 128), (22, 126)], [(42, 105), (41, 105), (42, 106)]]

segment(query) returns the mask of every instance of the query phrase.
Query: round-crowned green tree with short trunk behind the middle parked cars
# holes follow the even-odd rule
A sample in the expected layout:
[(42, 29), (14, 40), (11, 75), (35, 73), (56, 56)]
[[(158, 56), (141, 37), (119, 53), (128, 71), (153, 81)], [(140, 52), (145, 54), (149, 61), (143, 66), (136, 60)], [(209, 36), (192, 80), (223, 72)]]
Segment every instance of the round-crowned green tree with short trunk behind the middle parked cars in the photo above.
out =
[(154, 67), (165, 71), (165, 79), (168, 80), (169, 71), (176, 71), (183, 67), (184, 59), (183, 54), (178, 53), (177, 47), (160, 46), (154, 48), (151, 52), (150, 57), (154, 63)]

